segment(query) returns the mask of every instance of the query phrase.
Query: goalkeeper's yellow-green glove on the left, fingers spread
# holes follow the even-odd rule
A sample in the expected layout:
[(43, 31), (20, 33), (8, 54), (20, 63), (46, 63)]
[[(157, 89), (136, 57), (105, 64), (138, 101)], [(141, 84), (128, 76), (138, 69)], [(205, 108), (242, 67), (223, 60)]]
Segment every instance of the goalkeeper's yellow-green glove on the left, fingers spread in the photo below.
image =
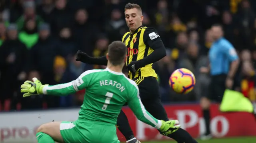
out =
[(27, 80), (27, 81), (24, 82), (24, 84), (22, 84), (20, 86), (20, 88), (21, 88), (20, 92), (24, 93), (23, 97), (42, 94), (44, 86), (48, 86), (48, 84), (42, 85), (40, 80), (38, 80), (35, 77), (32, 78), (32, 80), (33, 80), (33, 82)]

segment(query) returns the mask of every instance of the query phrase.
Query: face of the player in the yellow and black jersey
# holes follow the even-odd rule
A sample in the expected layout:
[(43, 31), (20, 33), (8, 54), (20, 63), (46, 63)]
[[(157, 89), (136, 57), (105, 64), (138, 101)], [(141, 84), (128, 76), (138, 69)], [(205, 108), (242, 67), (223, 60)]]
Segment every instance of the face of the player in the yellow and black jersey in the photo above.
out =
[(124, 14), (126, 24), (131, 31), (136, 30), (138, 27), (142, 25), (143, 16), (137, 8), (125, 10)]

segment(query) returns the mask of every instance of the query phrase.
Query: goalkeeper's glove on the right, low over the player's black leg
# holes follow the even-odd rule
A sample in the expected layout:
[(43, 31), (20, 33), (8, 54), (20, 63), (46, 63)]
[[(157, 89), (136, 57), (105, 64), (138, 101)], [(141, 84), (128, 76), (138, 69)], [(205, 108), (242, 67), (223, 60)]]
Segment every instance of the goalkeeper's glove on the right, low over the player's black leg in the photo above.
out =
[(162, 125), (159, 129), (160, 133), (162, 135), (169, 135), (171, 133), (174, 133), (180, 128), (179, 121), (178, 120), (170, 120), (170, 121), (162, 121)]

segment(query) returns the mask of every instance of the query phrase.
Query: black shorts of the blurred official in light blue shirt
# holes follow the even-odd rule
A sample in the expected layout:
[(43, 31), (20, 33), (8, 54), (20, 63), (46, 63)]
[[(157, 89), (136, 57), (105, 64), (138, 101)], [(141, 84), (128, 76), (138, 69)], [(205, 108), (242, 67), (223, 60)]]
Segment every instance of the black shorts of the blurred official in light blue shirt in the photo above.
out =
[(208, 98), (210, 100), (218, 103), (222, 101), (224, 92), (226, 90), (226, 77), (226, 74), (220, 74), (211, 77), (208, 94)]

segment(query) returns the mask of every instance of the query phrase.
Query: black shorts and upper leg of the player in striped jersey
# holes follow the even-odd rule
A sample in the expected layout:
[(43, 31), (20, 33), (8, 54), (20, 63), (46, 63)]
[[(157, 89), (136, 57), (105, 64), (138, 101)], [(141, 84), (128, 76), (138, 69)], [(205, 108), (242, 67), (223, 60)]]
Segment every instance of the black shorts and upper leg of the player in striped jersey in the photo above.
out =
[(168, 117), (162, 106), (158, 81), (153, 76), (133, 79), (139, 87), (140, 99), (146, 110), (156, 119), (167, 121)]

